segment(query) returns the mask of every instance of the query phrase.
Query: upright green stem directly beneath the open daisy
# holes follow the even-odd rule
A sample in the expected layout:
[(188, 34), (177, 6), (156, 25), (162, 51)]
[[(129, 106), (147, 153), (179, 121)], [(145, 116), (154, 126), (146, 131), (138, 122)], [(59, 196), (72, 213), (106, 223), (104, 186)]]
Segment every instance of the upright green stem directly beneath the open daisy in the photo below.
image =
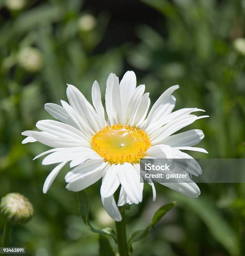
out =
[(119, 207), (120, 213), (122, 215), (122, 220), (116, 223), (116, 232), (117, 232), (117, 245), (118, 252), (120, 256), (128, 256), (128, 243), (127, 243), (127, 234), (126, 234), (126, 222), (125, 222), (125, 213), (124, 208)]

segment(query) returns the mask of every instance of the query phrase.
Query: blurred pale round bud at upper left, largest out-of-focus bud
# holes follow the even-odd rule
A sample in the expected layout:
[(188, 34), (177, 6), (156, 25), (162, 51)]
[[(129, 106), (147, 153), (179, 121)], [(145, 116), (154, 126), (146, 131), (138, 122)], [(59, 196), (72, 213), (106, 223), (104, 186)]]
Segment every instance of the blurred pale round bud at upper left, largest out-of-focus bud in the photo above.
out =
[(20, 50), (18, 62), (23, 69), (29, 72), (37, 72), (43, 65), (43, 57), (38, 49), (26, 47)]

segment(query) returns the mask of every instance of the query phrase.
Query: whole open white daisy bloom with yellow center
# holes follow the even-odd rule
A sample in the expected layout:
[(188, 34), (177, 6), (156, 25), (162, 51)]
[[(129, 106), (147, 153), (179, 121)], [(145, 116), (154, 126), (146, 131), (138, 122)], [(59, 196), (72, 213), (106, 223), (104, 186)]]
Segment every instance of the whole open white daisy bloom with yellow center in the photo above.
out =
[[(61, 100), (62, 107), (53, 103), (45, 105), (45, 110), (60, 122), (41, 120), (36, 124), (41, 131), (22, 133), (28, 136), (22, 143), (39, 141), (52, 148), (34, 159), (48, 154), (42, 164), (58, 164), (48, 175), (43, 193), (48, 191), (61, 168), (70, 162), (73, 169), (66, 174), (66, 188), (77, 192), (102, 178), (102, 204), (114, 220), (120, 221), (117, 206), (142, 201), (140, 159), (191, 158), (181, 150), (207, 153), (203, 148), (193, 147), (204, 138), (201, 130), (174, 134), (195, 120), (207, 117), (191, 115), (204, 111), (197, 108), (172, 112), (176, 102), (172, 93), (178, 88), (179, 85), (174, 85), (163, 92), (148, 113), (149, 93), (144, 93), (144, 84), (136, 87), (135, 73), (126, 72), (120, 83), (115, 74), (110, 74), (105, 92), (106, 120), (97, 81), (92, 86), (93, 106), (76, 87), (68, 84), (69, 104)], [(192, 170), (192, 174), (199, 175), (200, 171)], [(155, 200), (156, 189), (153, 183), (149, 184)], [(189, 197), (200, 195), (194, 182), (176, 180), (176, 183), (162, 184)], [(114, 193), (120, 185), (116, 203)]]

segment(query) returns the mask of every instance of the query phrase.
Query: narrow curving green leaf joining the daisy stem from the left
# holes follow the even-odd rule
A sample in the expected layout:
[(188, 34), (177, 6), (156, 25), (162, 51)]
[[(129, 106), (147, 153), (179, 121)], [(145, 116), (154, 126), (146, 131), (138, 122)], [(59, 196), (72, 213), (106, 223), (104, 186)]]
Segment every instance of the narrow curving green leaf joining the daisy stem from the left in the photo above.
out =
[(93, 233), (97, 233), (105, 236), (111, 236), (114, 239), (115, 243), (117, 243), (117, 236), (114, 229), (112, 228), (96, 229), (90, 224), (89, 222), (90, 202), (89, 202), (89, 197), (84, 190), (77, 192), (77, 202), (78, 202), (79, 214), (81, 215), (82, 220), (84, 224), (87, 226), (87, 228)]

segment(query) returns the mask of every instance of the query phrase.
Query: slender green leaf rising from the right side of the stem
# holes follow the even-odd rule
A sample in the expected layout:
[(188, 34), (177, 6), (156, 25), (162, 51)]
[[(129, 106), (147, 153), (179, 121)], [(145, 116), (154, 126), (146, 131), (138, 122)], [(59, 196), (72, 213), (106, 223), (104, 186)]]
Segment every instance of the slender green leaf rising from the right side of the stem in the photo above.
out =
[(161, 220), (161, 218), (163, 218), (163, 216), (176, 205), (176, 202), (163, 205), (156, 211), (147, 228), (145, 228), (144, 230), (137, 230), (130, 236), (128, 241), (128, 248), (130, 250), (130, 253), (133, 253), (132, 244), (145, 238), (148, 235), (151, 228), (153, 228)]

